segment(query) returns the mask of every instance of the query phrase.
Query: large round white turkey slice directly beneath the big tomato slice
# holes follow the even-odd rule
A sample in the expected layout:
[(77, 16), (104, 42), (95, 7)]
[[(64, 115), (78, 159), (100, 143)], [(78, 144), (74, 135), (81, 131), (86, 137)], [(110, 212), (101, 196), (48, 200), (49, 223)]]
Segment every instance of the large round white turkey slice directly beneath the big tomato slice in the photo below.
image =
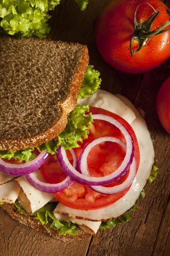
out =
[[(117, 97), (125, 102), (125, 104), (127, 104), (128, 107), (131, 108), (131, 110), (136, 115), (136, 119), (131, 123), (131, 126), (136, 134), (139, 144), (140, 165), (132, 186), (130, 187), (129, 191), (121, 199), (119, 199), (119, 201), (111, 204), (108, 207), (86, 211), (73, 209), (59, 203), (57, 205), (57, 213), (67, 214), (72, 218), (83, 218), (85, 220), (92, 221), (106, 221), (111, 218), (117, 218), (124, 212), (127, 212), (131, 207), (133, 207), (133, 205), (136, 203), (136, 200), (139, 198), (140, 193), (150, 176), (150, 172), (154, 163), (155, 152), (150, 137), (150, 132), (147, 129), (147, 124), (143, 117), (128, 99), (120, 95), (117, 95)], [(116, 101), (114, 101), (112, 104), (115, 106)], [(123, 105), (122, 108), (124, 108)], [(110, 111), (112, 111), (112, 106)]]

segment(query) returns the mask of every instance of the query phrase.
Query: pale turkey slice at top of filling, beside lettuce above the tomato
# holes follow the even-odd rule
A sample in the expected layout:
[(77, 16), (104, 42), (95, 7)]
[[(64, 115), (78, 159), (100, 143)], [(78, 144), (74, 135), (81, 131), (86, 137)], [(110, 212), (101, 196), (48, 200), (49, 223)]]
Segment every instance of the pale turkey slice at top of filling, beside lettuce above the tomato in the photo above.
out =
[(129, 124), (136, 118), (135, 113), (122, 100), (112, 93), (98, 89), (92, 96), (78, 100), (77, 104), (103, 108), (121, 116)]

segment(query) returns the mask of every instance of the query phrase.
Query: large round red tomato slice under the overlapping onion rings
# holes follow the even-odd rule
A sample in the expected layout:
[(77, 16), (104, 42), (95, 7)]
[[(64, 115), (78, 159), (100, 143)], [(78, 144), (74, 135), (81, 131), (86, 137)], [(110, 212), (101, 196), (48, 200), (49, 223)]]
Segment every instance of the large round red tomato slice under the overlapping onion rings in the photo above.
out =
[[(116, 114), (113, 114), (109, 111), (105, 111), (101, 108), (91, 107), (90, 112), (92, 112), (93, 114), (102, 113), (108, 116), (113, 116), (125, 126), (131, 137), (133, 138), (136, 157), (136, 169), (138, 169), (140, 161), (139, 146), (135, 133), (131, 126), (120, 116), (117, 116)], [(88, 139), (83, 140), (80, 148), (74, 148), (77, 157), (79, 157), (82, 149), (85, 147), (85, 145), (87, 145), (87, 143), (91, 142), (96, 138), (104, 136), (117, 137), (125, 141), (125, 138), (122, 135), (121, 131), (114, 125), (111, 125), (108, 122), (102, 120), (94, 120), (94, 123), (89, 130)], [(72, 163), (71, 154), (69, 154), (68, 152), (67, 155), (70, 162)], [(92, 148), (89, 152), (89, 172), (91, 176), (94, 177), (103, 177), (109, 175), (121, 165), (124, 157), (125, 150), (120, 145), (111, 142), (100, 143), (99, 145), (96, 145), (94, 148)], [(50, 156), (40, 169), (42, 172), (42, 176), (48, 183), (58, 183), (64, 180), (65, 177), (67, 177), (65, 172), (60, 167), (56, 156)], [(128, 174), (129, 170), (127, 171), (126, 175), (124, 175), (121, 179), (107, 186), (116, 186), (123, 183), (128, 177)], [(65, 204), (68, 207), (76, 209), (96, 209), (108, 206), (118, 201), (127, 193), (129, 189), (130, 186), (119, 193), (113, 195), (105, 195), (95, 192), (88, 186), (79, 184), (74, 181), (71, 186), (61, 192), (55, 193), (54, 196), (58, 199), (59, 202)]]

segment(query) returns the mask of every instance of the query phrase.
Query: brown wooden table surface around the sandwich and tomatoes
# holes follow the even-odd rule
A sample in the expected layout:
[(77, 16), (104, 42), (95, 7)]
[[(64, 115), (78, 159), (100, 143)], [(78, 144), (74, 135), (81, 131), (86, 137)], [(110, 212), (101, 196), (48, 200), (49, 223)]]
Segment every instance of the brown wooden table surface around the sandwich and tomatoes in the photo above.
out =
[[(74, 0), (62, 0), (52, 13), (53, 40), (87, 44), (90, 64), (99, 70), (102, 89), (121, 93), (145, 111), (154, 139), (159, 174), (145, 186), (145, 198), (126, 224), (100, 231), (95, 237), (63, 242), (13, 220), (0, 209), (0, 256), (169, 256), (170, 255), (170, 135), (156, 113), (156, 96), (170, 76), (170, 58), (161, 67), (139, 75), (114, 70), (99, 55), (95, 44), (95, 22), (109, 0), (90, 0), (80, 12)], [(166, 1), (170, 8), (170, 0)]]

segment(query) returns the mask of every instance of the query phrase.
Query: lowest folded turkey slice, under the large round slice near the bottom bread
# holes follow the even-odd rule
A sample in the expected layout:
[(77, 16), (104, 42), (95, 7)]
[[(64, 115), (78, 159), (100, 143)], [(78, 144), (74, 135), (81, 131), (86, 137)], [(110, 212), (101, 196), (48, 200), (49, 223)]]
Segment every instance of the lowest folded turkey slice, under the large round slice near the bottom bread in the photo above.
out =
[(74, 224), (77, 224), (85, 233), (90, 234), (91, 236), (96, 235), (97, 230), (100, 227), (101, 221), (84, 221), (81, 219), (71, 218), (67, 215), (61, 215), (57, 213), (57, 207), (53, 212), (54, 216), (61, 221), (71, 221)]

